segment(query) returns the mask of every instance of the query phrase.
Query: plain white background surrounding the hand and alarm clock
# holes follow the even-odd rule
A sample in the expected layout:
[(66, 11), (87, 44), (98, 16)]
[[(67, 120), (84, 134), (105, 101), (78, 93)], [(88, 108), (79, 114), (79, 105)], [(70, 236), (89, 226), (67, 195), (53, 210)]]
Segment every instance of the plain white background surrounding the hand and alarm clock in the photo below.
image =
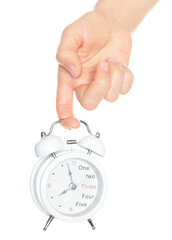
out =
[[(54, 220), (29, 192), (37, 158), (34, 145), (57, 119), (56, 49), (64, 27), (96, 1), (0, 1), (0, 238), (1, 239), (172, 239), (172, 3), (161, 1), (133, 35), (131, 92), (93, 112), (75, 101), (78, 118), (100, 131), (107, 154), (102, 159), (109, 195), (87, 222)], [(82, 127), (56, 133), (77, 139)], [(70, 137), (69, 137), (70, 136)], [(2, 237), (3, 236), (3, 237)]]

